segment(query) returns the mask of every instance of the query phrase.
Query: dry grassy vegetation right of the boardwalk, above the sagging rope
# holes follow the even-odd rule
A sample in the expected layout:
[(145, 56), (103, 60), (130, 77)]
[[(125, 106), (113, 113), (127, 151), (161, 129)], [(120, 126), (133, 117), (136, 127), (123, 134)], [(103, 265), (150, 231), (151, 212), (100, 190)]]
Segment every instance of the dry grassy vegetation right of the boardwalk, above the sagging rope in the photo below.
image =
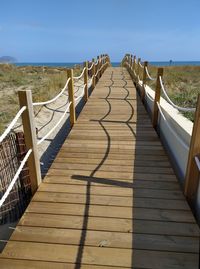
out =
[[(156, 77), (157, 67), (150, 66), (149, 72)], [(170, 99), (178, 106), (196, 107), (200, 93), (200, 66), (165, 66), (163, 81)], [(155, 89), (155, 82), (148, 82)], [(164, 97), (164, 96), (163, 96)], [(183, 113), (194, 120), (194, 113)]]

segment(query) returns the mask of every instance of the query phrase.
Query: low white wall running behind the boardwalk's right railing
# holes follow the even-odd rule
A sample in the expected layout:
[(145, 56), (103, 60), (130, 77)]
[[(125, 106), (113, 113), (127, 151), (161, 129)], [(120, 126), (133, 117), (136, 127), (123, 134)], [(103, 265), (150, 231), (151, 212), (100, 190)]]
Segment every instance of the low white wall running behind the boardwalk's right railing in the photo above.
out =
[[(139, 88), (142, 89), (141, 84), (139, 84)], [(149, 86), (145, 86), (145, 92), (147, 110), (150, 114), (153, 114), (155, 92)], [(162, 113), (159, 112), (158, 118), (160, 138), (164, 145), (166, 145), (165, 148), (168, 150), (172, 165), (183, 186), (193, 123), (162, 97), (160, 99), (160, 107), (162, 110)], [(197, 191), (196, 215), (198, 220), (200, 220), (200, 185)]]

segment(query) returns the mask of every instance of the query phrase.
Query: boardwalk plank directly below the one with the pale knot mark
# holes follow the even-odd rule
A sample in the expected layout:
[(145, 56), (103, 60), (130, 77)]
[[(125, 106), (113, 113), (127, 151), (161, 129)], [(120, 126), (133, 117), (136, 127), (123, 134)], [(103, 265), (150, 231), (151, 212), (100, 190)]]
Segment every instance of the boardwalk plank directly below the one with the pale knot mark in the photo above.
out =
[[(117, 248), (97, 248), (85, 246), (82, 250), (81, 262), (91, 265), (105, 266), (135, 266), (139, 268), (161, 268), (167, 264), (173, 268), (197, 268), (198, 254), (155, 252), (148, 250), (134, 250), (132, 262), (132, 250)], [(51, 253), (51, 255), (49, 255)], [(32, 242), (9, 242), (4, 255), (10, 258), (25, 260), (39, 260), (52, 262), (74, 263), (77, 259), (78, 247), (60, 244), (44, 244)], [(2, 255), (2, 256), (4, 256)], [(148, 257), (148, 259), (144, 259)], [(80, 261), (79, 261), (80, 262)], [(161, 267), (160, 267), (161, 266)]]

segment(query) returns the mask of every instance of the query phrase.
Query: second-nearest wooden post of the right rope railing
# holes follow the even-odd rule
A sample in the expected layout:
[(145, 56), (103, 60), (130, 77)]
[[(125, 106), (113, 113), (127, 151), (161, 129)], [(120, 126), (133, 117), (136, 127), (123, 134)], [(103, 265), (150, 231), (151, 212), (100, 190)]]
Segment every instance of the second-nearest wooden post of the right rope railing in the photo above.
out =
[(155, 99), (154, 99), (154, 110), (153, 110), (153, 119), (152, 119), (152, 125), (155, 128), (158, 122), (158, 105), (157, 102), (160, 103), (160, 79), (159, 77), (163, 76), (163, 68), (158, 68), (157, 72), (157, 81), (156, 81), (156, 90), (155, 90)]

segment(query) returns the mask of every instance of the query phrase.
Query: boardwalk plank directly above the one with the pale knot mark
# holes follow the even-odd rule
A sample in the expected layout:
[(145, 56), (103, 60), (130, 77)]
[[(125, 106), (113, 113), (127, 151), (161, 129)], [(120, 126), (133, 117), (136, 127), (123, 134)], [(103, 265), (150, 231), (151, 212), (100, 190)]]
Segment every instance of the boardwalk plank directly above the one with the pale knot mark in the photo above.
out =
[[(36, 226), (64, 229), (83, 229), (83, 216), (25, 213), (18, 226)], [(194, 223), (162, 222), (120, 218), (88, 217), (87, 230), (125, 233), (190, 236), (199, 238)]]

